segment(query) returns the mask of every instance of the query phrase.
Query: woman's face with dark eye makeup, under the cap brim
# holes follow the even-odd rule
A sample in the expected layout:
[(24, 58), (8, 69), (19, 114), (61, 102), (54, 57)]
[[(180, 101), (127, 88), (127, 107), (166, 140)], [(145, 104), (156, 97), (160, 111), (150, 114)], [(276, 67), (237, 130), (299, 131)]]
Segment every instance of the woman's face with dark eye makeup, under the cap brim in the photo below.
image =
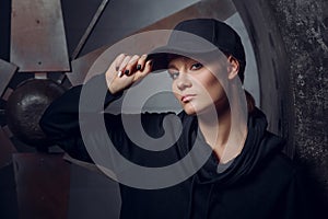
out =
[(227, 106), (225, 92), (209, 69), (213, 69), (216, 76), (226, 72), (218, 64), (214, 66), (210, 62), (203, 66), (197, 60), (183, 56), (174, 57), (168, 62), (174, 95), (188, 115), (206, 113), (212, 104), (216, 112)]

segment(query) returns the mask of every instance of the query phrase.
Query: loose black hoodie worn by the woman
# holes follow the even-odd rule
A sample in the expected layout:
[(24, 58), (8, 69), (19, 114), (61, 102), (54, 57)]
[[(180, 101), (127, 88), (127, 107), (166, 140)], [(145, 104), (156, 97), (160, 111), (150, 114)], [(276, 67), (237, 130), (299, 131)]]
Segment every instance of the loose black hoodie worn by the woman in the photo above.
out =
[[(104, 76), (94, 77), (85, 87), (90, 87), (92, 91), (104, 91)], [(79, 128), (81, 88), (72, 88), (56, 100), (45, 112), (40, 126), (70, 155), (93, 162), (85, 150)], [(105, 105), (117, 97), (107, 93)], [(93, 96), (90, 96), (87, 111), (101, 112), (104, 105), (93, 104), (92, 99)], [(143, 114), (144, 131), (153, 138), (161, 137), (164, 134), (163, 118), (166, 115), (168, 114)], [(149, 168), (166, 166), (179, 161), (188, 154), (196, 141), (202, 145), (204, 150), (209, 150), (210, 147), (201, 134), (197, 135), (200, 132), (197, 117), (185, 113), (180, 113), (178, 117), (183, 124), (183, 132), (176, 143), (166, 150), (154, 152), (136, 147), (125, 132), (120, 115), (104, 115), (108, 132), (106, 134), (116, 149), (131, 162)], [(133, 119), (131, 116), (131, 123)], [(94, 132), (98, 132), (96, 127)], [(283, 145), (281, 138), (267, 131), (266, 116), (259, 110), (255, 110), (248, 116), (245, 146), (230, 163), (219, 165), (212, 152), (197, 173), (173, 186), (143, 189), (120, 184), (120, 218), (311, 218), (297, 169), (281, 153)]]

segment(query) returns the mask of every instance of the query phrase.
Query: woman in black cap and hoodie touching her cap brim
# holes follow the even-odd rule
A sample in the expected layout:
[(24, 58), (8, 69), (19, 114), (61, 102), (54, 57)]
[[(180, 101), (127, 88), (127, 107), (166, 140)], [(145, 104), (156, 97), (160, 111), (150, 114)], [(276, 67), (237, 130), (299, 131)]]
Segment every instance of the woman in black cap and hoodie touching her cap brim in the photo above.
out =
[[(114, 172), (120, 218), (309, 218), (296, 168), (281, 152), (284, 141), (266, 130), (266, 116), (239, 90), (246, 61), (237, 33), (212, 19), (184, 21), (175, 31), (152, 55), (118, 55), (105, 74), (56, 100), (40, 120), (45, 132), (73, 158)], [(140, 131), (136, 117), (99, 112), (159, 68), (172, 77), (180, 123), (171, 113), (142, 114), (150, 139), (136, 140), (127, 131)], [(105, 126), (84, 113), (101, 115)], [(115, 148), (108, 155), (99, 149), (110, 147), (104, 129)]]

